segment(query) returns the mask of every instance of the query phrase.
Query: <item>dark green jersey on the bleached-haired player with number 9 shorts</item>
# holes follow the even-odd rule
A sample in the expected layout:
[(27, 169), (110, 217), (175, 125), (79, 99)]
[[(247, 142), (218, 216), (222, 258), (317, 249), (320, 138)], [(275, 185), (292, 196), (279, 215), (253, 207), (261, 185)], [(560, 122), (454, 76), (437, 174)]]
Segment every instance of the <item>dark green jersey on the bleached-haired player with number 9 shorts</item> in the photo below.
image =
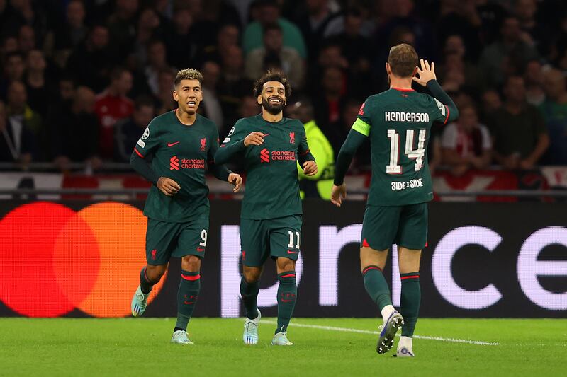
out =
[(217, 150), (218, 130), (206, 117), (197, 115), (191, 126), (181, 123), (175, 111), (155, 117), (137, 141), (135, 152), (142, 158), (152, 156), (157, 175), (171, 178), (181, 190), (168, 197), (152, 185), (144, 214), (174, 223), (208, 216), (205, 170)]

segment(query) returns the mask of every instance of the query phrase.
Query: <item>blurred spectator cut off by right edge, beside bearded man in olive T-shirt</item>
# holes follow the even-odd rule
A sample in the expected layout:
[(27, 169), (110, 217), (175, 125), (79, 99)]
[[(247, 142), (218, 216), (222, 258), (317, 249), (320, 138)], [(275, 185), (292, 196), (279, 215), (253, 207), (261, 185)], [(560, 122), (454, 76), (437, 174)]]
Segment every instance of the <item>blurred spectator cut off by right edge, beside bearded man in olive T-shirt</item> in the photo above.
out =
[(547, 132), (549, 151), (545, 162), (553, 165), (567, 165), (567, 90), (565, 76), (557, 69), (544, 74), (546, 100), (541, 104)]

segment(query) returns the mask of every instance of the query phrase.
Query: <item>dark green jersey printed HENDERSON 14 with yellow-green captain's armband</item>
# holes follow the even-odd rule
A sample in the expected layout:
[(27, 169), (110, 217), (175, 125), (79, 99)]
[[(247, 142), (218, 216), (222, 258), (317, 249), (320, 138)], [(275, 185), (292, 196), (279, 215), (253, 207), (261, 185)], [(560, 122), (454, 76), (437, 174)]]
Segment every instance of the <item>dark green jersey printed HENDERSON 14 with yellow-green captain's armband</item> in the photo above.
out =
[(402, 206), (433, 199), (427, 144), (432, 124), (448, 119), (446, 105), (412, 90), (391, 88), (366, 99), (352, 129), (370, 138), (369, 205)]

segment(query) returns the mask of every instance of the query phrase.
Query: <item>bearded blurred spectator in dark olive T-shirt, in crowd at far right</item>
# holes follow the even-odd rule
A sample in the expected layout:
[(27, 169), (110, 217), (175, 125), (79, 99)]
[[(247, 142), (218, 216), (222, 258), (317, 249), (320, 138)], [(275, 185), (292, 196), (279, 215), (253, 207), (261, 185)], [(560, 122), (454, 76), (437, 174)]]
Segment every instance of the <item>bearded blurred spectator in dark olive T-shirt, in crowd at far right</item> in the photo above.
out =
[(511, 76), (504, 86), (505, 103), (495, 111), (490, 133), (494, 158), (507, 169), (531, 169), (549, 146), (541, 114), (526, 102), (521, 76)]

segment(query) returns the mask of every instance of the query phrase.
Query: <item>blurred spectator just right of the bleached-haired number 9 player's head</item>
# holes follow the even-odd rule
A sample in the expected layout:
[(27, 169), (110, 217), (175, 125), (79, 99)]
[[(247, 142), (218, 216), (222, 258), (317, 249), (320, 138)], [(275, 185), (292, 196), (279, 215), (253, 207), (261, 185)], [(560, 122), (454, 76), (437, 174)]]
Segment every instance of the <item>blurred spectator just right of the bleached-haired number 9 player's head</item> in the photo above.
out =
[(205, 62), (201, 68), (203, 74), (203, 103), (199, 110), (204, 116), (215, 122), (218, 129), (223, 128), (223, 108), (220, 107), (217, 88), (220, 79), (220, 66), (216, 62)]

